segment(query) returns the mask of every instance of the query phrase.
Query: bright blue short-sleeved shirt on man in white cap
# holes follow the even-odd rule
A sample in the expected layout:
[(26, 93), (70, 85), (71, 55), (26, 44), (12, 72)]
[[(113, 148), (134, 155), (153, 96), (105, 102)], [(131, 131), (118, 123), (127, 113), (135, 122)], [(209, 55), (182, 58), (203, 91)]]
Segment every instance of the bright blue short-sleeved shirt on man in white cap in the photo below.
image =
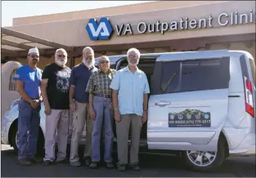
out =
[(13, 79), (24, 83), (24, 90), (30, 98), (38, 99), (41, 96), (42, 73), (42, 69), (33, 69), (29, 65), (24, 65), (17, 70)]

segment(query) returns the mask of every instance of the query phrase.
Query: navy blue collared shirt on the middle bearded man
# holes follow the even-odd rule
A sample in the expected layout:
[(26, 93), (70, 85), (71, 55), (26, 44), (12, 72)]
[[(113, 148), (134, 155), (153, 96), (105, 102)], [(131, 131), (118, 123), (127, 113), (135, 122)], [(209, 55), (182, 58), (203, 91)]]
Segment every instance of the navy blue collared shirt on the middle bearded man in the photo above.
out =
[(88, 69), (83, 62), (80, 65), (74, 66), (70, 77), (70, 83), (74, 85), (74, 100), (77, 100), (79, 103), (89, 102), (89, 94), (85, 92), (85, 89), (92, 73), (97, 70), (98, 69), (94, 66)]

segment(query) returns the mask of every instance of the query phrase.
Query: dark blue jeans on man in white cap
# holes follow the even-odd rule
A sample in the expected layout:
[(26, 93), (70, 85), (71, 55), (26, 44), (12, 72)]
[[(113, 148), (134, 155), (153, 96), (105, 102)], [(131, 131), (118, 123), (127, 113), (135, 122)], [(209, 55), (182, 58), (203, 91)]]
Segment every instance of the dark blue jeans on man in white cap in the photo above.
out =
[(20, 99), (18, 107), (18, 159), (33, 158), (37, 154), (41, 105), (33, 109), (27, 101)]

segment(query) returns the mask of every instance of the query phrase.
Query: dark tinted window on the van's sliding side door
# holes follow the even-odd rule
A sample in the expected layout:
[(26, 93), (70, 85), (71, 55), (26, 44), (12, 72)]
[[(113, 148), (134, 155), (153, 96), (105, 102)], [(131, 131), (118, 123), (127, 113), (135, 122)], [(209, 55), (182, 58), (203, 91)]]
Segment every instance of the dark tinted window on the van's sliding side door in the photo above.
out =
[(161, 68), (157, 94), (228, 88), (230, 80), (229, 57), (168, 61)]

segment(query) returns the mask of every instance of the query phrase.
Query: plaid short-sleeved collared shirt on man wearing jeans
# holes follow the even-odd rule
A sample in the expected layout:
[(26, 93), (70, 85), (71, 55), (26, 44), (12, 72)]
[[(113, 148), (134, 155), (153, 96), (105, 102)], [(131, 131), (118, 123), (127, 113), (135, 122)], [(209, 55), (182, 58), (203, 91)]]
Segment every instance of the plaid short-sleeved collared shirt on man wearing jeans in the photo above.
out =
[(92, 73), (86, 91), (97, 95), (111, 95), (110, 83), (115, 76), (115, 72), (115, 69), (109, 69), (106, 73), (101, 70)]

